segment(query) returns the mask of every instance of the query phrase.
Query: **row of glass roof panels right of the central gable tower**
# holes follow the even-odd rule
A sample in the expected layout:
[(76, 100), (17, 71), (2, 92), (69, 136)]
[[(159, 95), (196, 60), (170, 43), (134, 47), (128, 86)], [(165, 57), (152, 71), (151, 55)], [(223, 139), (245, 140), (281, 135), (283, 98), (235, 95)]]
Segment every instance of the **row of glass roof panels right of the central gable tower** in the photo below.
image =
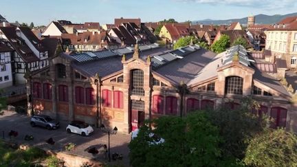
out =
[(180, 49), (175, 49), (165, 54), (153, 56), (151, 58), (151, 65), (153, 65), (153, 67), (160, 67), (175, 59), (184, 58), (184, 56), (191, 54), (192, 52), (195, 52), (197, 49), (200, 49), (199, 45), (191, 45), (187, 47), (182, 47)]

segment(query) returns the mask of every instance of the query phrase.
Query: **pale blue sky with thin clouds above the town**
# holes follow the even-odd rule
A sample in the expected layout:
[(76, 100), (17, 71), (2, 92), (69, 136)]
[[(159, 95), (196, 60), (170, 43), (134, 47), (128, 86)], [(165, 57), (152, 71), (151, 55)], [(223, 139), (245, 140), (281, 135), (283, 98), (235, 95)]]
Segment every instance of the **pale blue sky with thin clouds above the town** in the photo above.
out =
[(48, 25), (50, 21), (113, 23), (115, 18), (142, 22), (239, 19), (251, 14), (297, 12), (296, 0), (1, 0), (0, 14), (8, 21)]

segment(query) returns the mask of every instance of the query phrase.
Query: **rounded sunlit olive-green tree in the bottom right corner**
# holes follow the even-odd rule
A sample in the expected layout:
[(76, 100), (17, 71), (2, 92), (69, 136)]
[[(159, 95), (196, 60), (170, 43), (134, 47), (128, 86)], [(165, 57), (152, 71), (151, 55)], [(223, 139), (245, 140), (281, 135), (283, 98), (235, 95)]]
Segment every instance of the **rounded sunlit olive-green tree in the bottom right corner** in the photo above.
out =
[(248, 166), (297, 166), (297, 137), (284, 129), (260, 133), (250, 141), (244, 162)]

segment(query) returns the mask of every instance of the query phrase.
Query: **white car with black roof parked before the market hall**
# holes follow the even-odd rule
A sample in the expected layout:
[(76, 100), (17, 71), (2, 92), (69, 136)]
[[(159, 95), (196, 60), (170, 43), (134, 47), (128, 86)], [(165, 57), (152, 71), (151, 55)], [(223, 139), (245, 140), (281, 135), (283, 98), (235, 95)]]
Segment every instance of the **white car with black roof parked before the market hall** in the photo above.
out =
[(89, 126), (89, 124), (81, 121), (72, 121), (68, 126), (66, 127), (66, 131), (68, 133), (77, 133), (79, 135), (91, 135), (94, 133), (94, 129)]

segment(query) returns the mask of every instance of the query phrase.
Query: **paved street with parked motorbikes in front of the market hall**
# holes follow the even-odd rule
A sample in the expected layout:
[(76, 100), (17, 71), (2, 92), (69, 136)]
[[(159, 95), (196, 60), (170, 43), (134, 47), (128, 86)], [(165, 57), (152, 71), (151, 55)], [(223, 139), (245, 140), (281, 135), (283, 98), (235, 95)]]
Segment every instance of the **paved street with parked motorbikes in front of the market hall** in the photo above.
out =
[[(2, 132), (4, 131), (5, 140), (8, 140), (8, 132), (11, 130), (17, 131), (19, 135), (15, 138), (12, 137), (12, 140), (16, 140), (19, 143), (28, 143), (34, 146), (40, 146), (41, 148), (50, 148), (55, 151), (64, 150), (65, 144), (72, 142), (76, 144), (76, 149), (71, 151), (71, 153), (96, 158), (100, 162), (107, 162), (107, 159), (104, 159), (104, 155), (101, 152), (103, 151), (102, 146), (104, 144), (107, 144), (108, 146), (108, 135), (106, 133), (94, 128), (94, 134), (88, 137), (72, 133), (69, 134), (65, 131), (67, 123), (60, 123), (61, 127), (59, 129), (51, 131), (40, 127), (33, 128), (30, 126), (30, 118), (27, 115), (20, 115), (18, 113), (5, 111), (4, 115), (0, 115), (0, 137), (3, 137)], [(25, 135), (33, 135), (34, 141), (26, 142), (24, 140)], [(52, 137), (54, 142), (56, 142), (54, 146), (50, 146), (45, 142), (50, 137)], [(125, 166), (129, 166), (128, 144), (130, 139), (131, 135), (124, 135), (120, 133), (110, 136), (111, 154), (121, 153), (124, 157), (122, 161), (117, 160), (117, 162), (113, 162), (113, 164), (124, 164)], [(86, 151), (86, 149), (91, 146), (95, 146), (100, 151), (100, 153), (95, 157)]]

